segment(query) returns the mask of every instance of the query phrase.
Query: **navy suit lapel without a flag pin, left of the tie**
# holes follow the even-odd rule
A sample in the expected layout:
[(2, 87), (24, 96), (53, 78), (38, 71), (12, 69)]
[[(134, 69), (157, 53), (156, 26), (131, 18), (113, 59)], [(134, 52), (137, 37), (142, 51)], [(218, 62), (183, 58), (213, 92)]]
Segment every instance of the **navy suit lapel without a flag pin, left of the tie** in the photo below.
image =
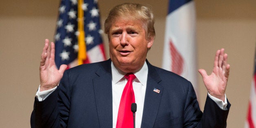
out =
[(98, 77), (93, 79), (95, 102), (99, 126), (111, 128), (113, 125), (111, 61), (101, 64), (102, 68), (96, 72)]

